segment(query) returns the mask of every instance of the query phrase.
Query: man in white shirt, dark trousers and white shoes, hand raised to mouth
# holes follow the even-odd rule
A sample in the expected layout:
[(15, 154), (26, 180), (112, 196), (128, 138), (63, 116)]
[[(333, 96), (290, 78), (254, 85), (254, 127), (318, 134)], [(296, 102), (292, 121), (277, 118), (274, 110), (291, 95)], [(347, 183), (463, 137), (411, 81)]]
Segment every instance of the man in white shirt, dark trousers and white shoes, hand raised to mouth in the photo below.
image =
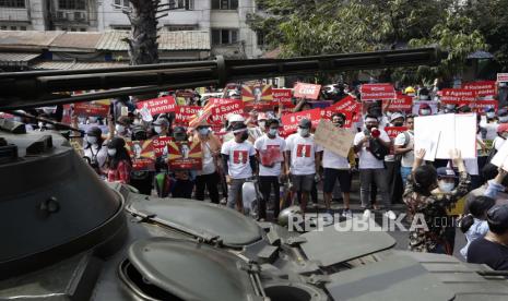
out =
[[(387, 210), (385, 215), (390, 219), (395, 219), (397, 216), (391, 210), (391, 200), (388, 195), (387, 174), (383, 162), (385, 158), (383, 156), (377, 158), (374, 155), (377, 150), (374, 148), (376, 145), (385, 147), (387, 150), (385, 153), (387, 154), (391, 142), (388, 134), (385, 131), (379, 130), (378, 127), (379, 121), (377, 117), (367, 115), (365, 118), (365, 130), (357, 133), (353, 142), (354, 150), (359, 157), (359, 195), (362, 200), (362, 207), (365, 208), (364, 216), (369, 217), (370, 210), (368, 209), (368, 201), (370, 195), (370, 185), (375, 182), (381, 195), (381, 201), (385, 204), (385, 209)], [(377, 156), (379, 156), (379, 154), (381, 154), (381, 152), (376, 152)]]

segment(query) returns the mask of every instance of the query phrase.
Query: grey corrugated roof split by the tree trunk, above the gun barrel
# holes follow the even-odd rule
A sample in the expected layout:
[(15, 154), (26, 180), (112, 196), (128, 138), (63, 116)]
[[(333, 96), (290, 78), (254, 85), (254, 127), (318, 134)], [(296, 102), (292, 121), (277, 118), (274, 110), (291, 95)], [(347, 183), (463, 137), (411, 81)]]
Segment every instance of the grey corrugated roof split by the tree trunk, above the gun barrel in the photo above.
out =
[[(123, 39), (128, 31), (109, 31), (103, 33), (96, 45), (97, 50), (127, 51), (128, 44)], [(210, 50), (210, 34), (203, 31), (161, 32), (158, 33), (158, 50)]]

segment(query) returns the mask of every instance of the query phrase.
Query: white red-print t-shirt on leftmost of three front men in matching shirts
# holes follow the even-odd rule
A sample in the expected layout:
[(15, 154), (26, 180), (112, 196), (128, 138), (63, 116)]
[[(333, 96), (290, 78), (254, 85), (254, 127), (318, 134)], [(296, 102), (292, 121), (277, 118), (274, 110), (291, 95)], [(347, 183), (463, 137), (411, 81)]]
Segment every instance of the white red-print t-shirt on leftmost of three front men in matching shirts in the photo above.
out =
[(233, 179), (247, 179), (252, 177), (249, 157), (256, 154), (252, 144), (247, 141), (237, 143), (231, 140), (222, 145), (221, 154), (228, 155), (227, 168)]

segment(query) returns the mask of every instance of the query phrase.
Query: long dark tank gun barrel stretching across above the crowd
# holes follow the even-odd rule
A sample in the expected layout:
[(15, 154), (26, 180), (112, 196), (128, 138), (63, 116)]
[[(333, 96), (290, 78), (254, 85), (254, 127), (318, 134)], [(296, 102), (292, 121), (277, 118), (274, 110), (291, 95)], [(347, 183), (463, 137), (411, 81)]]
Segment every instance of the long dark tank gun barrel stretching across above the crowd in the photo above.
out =
[[(433, 65), (442, 53), (437, 48), (385, 50), (377, 52), (312, 56), (292, 59), (224, 60), (161, 63), (92, 70), (56, 70), (0, 73), (0, 110), (54, 104), (87, 101), (101, 97), (135, 95), (168, 88), (203, 85), (223, 86), (227, 82), (312, 74), (346, 70)], [(128, 87), (128, 88), (126, 88)], [(63, 92), (115, 89), (66, 97)]]

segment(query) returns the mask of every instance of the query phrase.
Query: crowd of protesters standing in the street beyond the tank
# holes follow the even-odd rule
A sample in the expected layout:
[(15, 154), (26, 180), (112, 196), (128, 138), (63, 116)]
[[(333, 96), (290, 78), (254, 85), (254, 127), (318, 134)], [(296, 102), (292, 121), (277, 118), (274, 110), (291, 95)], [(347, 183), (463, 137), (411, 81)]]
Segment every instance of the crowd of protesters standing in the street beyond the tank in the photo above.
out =
[[(438, 100), (438, 86), (410, 87), (403, 93), (423, 101)], [(347, 95), (359, 97), (343, 85), (323, 92), (321, 97), (339, 100)], [(225, 98), (239, 99), (240, 94), (229, 91)], [(187, 105), (204, 106), (205, 103), (197, 96)], [(292, 111), (309, 110), (312, 105), (307, 99), (295, 99)], [(415, 117), (450, 112), (470, 113), (472, 109), (440, 106), (432, 111), (424, 104), (415, 116), (388, 112), (373, 105), (351, 128), (355, 136), (347, 157), (318, 145), (312, 134), (316, 128), (308, 119), (299, 121), (296, 133), (281, 137), (281, 115), (284, 113), (281, 107), (268, 112), (251, 110), (246, 116), (231, 115), (221, 129), (213, 128), (206, 120), (186, 128), (175, 124), (172, 113), (156, 115), (147, 122), (129, 97), (121, 97), (113, 100), (107, 118), (73, 116), (72, 125), (84, 131), (82, 156), (99, 177), (130, 184), (143, 194), (200, 201), (208, 196), (212, 203), (244, 212), (243, 186), (256, 178), (262, 195), (258, 213), (261, 220), (276, 221), (281, 209), (294, 202), (303, 213), (308, 212), (309, 203), (317, 202), (321, 190), (326, 210), (332, 213), (332, 201), (340, 198), (343, 200), (342, 216), (350, 218), (353, 215), (350, 193), (357, 172), (363, 216), (382, 209), (385, 217), (394, 220), (393, 203), (406, 205), (409, 221), (423, 216), (428, 228), (410, 232), (409, 249), (417, 252), (453, 253), (457, 216), (449, 210), (459, 200), (465, 198), (460, 229), (468, 244), (461, 250), (462, 256), (472, 263), (508, 269), (508, 194), (505, 193), (508, 179), (503, 168), (489, 164), (508, 137), (508, 108), (493, 107), (476, 112), (477, 158), (462, 159), (460, 152), (450, 149), (450, 160), (426, 162), (424, 157), (428, 149), (414, 149)], [(62, 108), (45, 108), (33, 113), (59, 121)], [(58, 128), (29, 118), (15, 118), (32, 131)], [(333, 113), (330, 122), (344, 128), (346, 116)], [(383, 130), (386, 127), (406, 127), (406, 130), (390, 139)], [(126, 142), (164, 136), (198, 141), (202, 150), (201, 169), (172, 170), (165, 149), (155, 159), (154, 170), (134, 170)], [(487, 141), (492, 141), (492, 150)], [(267, 152), (279, 155), (265, 161)], [(269, 207), (273, 215), (268, 214)]]

